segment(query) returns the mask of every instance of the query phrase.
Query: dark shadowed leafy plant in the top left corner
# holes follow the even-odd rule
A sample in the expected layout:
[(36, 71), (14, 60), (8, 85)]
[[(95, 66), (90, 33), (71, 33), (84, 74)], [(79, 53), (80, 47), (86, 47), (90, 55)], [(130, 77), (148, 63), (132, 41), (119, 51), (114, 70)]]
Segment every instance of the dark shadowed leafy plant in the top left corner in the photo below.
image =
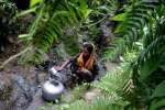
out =
[(0, 0), (0, 52), (4, 52), (7, 36), (15, 34), (19, 30), (18, 24), (14, 24), (16, 21), (13, 19), (16, 11), (14, 3)]

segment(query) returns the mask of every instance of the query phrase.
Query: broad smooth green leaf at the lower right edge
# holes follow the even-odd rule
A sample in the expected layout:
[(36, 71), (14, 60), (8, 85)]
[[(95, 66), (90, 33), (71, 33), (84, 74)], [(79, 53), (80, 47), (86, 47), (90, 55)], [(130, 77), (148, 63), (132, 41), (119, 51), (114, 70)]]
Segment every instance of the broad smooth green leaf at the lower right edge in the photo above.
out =
[(155, 88), (152, 98), (164, 96), (165, 96), (165, 80)]

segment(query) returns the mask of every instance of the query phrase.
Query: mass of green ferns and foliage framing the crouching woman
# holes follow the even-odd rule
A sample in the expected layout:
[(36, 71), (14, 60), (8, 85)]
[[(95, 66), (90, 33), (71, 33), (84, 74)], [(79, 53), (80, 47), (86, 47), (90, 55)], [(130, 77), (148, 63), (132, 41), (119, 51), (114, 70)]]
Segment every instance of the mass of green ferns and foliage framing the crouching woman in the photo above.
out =
[[(0, 1), (0, 11), (4, 13), (4, 7), (12, 4), (9, 1)], [(107, 72), (97, 85), (90, 84), (90, 89), (99, 90), (91, 103), (81, 97), (86, 92), (82, 85), (73, 90), (72, 101), (51, 105), (53, 108), (59, 110), (164, 109), (164, 0), (31, 0), (30, 6), (26, 11), (18, 13), (15, 8), (12, 12), (16, 12), (15, 18), (34, 14), (35, 19), (32, 20), (28, 33), (19, 35), (25, 47), (31, 48), (18, 55), (22, 56), (21, 62), (34, 65), (45, 62), (45, 54), (58, 44), (64, 44), (62, 50), (69, 55), (79, 52), (79, 44), (85, 41), (94, 42), (99, 47), (96, 41), (101, 33), (100, 24), (107, 20), (116, 23), (112, 30), (114, 37), (108, 46), (103, 46), (106, 51), (102, 52), (101, 57), (99, 56), (99, 62), (117, 62), (122, 56), (123, 61), (119, 63), (119, 67), (114, 72)], [(0, 16), (6, 18), (3, 14)], [(9, 15), (7, 20), (11, 20), (11, 16)], [(8, 25), (7, 22), (3, 23)], [(6, 30), (11, 31), (8, 28)], [(0, 33), (2, 37), (7, 36), (4, 34), (7, 31)]]

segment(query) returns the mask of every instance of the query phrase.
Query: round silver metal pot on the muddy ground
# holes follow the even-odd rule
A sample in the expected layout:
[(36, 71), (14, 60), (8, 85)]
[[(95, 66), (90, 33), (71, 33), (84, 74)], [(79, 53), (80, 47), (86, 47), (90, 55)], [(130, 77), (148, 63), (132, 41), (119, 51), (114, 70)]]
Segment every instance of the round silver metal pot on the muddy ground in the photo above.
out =
[(62, 82), (50, 79), (42, 86), (42, 96), (44, 99), (55, 101), (63, 92), (65, 88)]

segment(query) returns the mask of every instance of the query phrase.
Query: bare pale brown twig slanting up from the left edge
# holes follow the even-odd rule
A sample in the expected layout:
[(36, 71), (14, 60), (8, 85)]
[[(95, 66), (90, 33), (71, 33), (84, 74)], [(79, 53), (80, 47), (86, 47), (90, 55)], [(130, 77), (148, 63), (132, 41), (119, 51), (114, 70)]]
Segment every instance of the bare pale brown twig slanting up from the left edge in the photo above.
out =
[(6, 66), (9, 62), (11, 62), (12, 59), (19, 57), (20, 55), (24, 54), (25, 52), (28, 52), (28, 51), (31, 50), (31, 48), (32, 48), (31, 46), (30, 46), (30, 47), (26, 47), (25, 50), (21, 51), (20, 53), (10, 56), (3, 64), (1, 64), (0, 70), (2, 70), (2, 69), (4, 68), (4, 66)]

